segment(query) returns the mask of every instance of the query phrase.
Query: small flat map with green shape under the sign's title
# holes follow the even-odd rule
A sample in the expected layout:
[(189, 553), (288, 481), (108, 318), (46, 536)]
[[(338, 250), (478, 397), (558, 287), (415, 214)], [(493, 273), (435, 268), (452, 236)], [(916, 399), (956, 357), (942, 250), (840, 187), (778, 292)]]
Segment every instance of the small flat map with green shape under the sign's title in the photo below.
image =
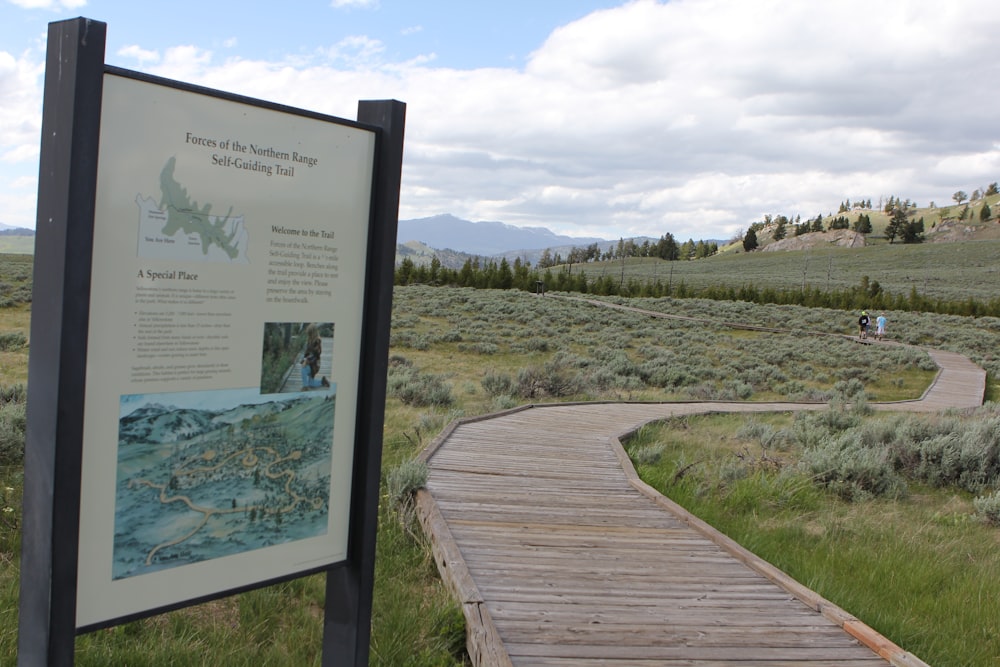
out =
[(174, 178), (176, 158), (160, 172), (160, 202), (136, 195), (138, 256), (151, 259), (246, 263), (248, 234), (242, 215), (212, 213), (212, 204), (192, 201)]

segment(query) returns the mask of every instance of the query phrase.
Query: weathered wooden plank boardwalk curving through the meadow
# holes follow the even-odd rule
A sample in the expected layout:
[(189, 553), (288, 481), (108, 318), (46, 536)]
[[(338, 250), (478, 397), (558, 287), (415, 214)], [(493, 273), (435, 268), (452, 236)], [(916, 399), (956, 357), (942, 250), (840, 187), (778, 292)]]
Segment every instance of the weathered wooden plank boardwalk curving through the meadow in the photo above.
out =
[[(982, 403), (985, 372), (941, 367), (927, 411)], [(650, 421), (822, 404), (528, 406), (450, 425), (417, 502), (463, 605), (475, 665), (924, 665), (635, 475), (618, 438)]]

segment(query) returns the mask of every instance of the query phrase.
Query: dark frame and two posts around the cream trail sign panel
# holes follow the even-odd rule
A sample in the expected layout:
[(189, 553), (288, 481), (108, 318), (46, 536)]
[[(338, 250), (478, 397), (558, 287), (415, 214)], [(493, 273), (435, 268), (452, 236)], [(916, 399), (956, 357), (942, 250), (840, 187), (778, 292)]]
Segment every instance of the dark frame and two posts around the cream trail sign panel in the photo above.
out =
[[(39, 169), (25, 444), (18, 664), (72, 665), (75, 636), (326, 572), (323, 665), (366, 665), (405, 104), (362, 101), (348, 121), (104, 63), (106, 24), (49, 25)], [(346, 557), (79, 626), (81, 476), (103, 82), (117, 75), (373, 137)], [(85, 537), (85, 536), (83, 536)]]

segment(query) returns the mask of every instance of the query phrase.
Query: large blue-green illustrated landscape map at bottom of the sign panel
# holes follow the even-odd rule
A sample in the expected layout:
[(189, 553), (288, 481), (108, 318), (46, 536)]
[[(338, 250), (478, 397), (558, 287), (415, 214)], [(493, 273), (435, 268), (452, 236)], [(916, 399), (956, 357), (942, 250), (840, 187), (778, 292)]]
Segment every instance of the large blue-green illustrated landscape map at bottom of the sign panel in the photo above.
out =
[(336, 386), (122, 396), (112, 575), (324, 535)]

